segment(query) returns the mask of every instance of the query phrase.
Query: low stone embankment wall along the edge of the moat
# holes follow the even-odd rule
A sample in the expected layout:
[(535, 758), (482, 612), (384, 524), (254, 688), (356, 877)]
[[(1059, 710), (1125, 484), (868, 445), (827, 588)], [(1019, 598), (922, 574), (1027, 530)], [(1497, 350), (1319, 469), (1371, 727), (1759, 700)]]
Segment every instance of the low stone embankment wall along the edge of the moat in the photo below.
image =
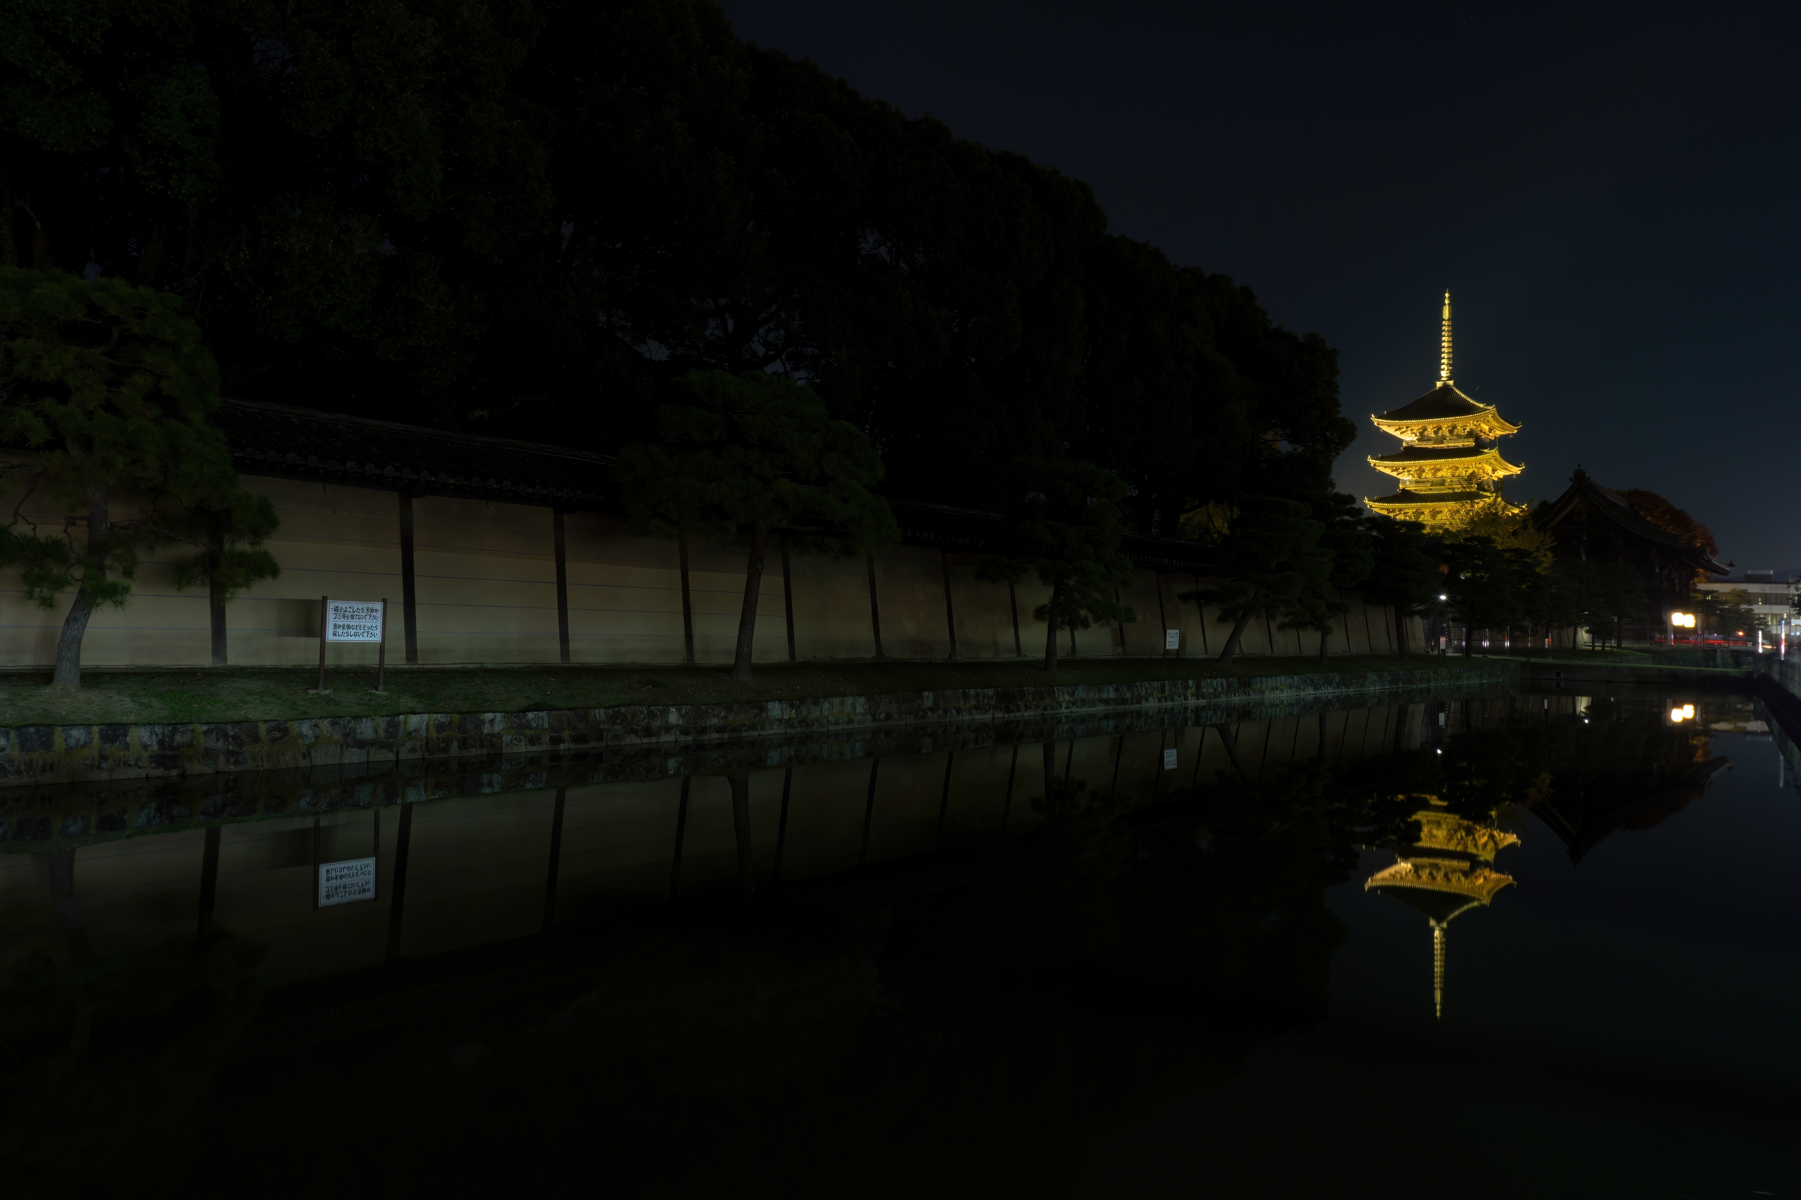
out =
[(1493, 689), (1518, 664), (1412, 671), (1154, 680), (1072, 687), (973, 687), (717, 705), (621, 705), (540, 712), (414, 712), (169, 725), (0, 729), (0, 788), (202, 775), (546, 750), (850, 732), (920, 723), (1045, 721), (1156, 707), (1331, 705), (1435, 689)]

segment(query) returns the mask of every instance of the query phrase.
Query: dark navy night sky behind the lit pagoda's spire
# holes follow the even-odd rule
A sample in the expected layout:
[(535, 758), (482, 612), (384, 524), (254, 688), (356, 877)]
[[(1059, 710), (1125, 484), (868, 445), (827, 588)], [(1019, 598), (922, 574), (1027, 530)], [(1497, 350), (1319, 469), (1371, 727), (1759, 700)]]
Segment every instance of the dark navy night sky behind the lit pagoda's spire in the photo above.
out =
[[(1371, 412), (1457, 383), (1524, 432), (1515, 500), (1581, 462), (1801, 565), (1779, 446), (1801, 299), (1797, 22), (1776, 5), (724, 0), (746, 40), (1086, 180), (1113, 232), (1255, 288)], [(1480, 389), (1480, 390), (1477, 390)]]

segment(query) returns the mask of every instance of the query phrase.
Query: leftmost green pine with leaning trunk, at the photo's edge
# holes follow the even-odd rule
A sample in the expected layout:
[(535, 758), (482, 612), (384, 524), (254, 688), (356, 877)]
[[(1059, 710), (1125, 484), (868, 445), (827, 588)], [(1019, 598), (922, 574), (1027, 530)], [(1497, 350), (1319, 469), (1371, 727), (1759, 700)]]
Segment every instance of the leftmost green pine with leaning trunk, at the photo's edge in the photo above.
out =
[[(4, 480), (61, 513), (61, 531), (41, 533), (22, 500), (0, 531), (0, 569), (43, 608), (76, 588), (56, 642), (58, 687), (81, 687), (88, 621), (130, 601), (144, 549), (198, 542), (196, 511), (258, 507), (207, 423), (216, 405), (218, 369), (176, 297), (122, 279), (0, 268), (0, 437), (25, 450)], [(139, 516), (112, 516), (119, 489), (133, 493)], [(272, 522), (272, 511), (258, 518), (258, 542)], [(272, 570), (267, 556), (234, 560), (238, 587)]]

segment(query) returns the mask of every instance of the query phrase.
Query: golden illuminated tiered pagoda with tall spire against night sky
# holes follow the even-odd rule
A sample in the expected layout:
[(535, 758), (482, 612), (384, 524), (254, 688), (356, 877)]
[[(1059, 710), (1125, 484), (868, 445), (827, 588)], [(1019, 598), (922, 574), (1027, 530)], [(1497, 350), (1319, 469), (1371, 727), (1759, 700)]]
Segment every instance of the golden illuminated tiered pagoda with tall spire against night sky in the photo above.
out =
[[(1398, 453), (1371, 457), (1378, 471), (1394, 475), (1401, 489), (1392, 497), (1363, 498), (1372, 513), (1423, 522), (1430, 529), (1453, 525), (1484, 502), (1500, 502), (1500, 486), (1515, 466), (1495, 448), (1518, 425), (1507, 425), (1495, 405), (1479, 405), (1457, 390), (1452, 380), (1452, 293), (1444, 293), (1439, 326), (1439, 381), (1410, 405), (1380, 417), (1371, 416), (1385, 434), (1401, 439)], [(1509, 506), (1511, 507), (1511, 506)]]

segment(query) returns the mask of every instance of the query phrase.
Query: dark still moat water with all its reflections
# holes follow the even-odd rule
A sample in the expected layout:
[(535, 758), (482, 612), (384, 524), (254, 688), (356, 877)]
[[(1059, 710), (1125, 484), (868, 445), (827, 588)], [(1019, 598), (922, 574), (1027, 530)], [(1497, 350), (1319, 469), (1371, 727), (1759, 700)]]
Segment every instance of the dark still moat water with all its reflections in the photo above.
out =
[(1551, 689), (0, 797), (0, 1169), (1796, 1196), (1794, 761)]

